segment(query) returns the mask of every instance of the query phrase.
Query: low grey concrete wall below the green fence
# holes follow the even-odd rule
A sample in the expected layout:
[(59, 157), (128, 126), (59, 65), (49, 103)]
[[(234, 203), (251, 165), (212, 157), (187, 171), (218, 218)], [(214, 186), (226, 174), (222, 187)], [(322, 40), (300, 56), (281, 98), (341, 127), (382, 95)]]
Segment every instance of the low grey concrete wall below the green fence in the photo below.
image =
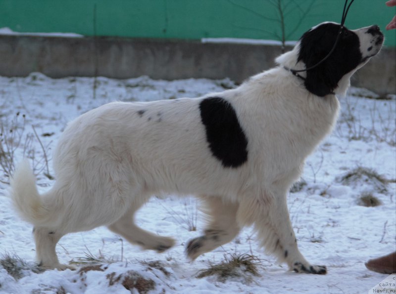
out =
[[(287, 48), (287, 50), (290, 48)], [(0, 75), (41, 72), (52, 78), (104, 76), (127, 79), (229, 77), (242, 82), (274, 66), (280, 46), (159, 39), (0, 36)], [(396, 93), (396, 51), (384, 48), (359, 70), (352, 85)]]

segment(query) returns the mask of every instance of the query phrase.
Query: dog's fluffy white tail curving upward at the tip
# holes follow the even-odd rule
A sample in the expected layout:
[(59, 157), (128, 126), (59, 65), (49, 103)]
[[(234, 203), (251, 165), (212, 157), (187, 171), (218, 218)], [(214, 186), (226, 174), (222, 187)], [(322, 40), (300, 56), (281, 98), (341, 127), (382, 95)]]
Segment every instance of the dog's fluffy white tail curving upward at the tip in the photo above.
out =
[(11, 197), (19, 215), (34, 226), (53, 226), (54, 211), (50, 211), (36, 187), (36, 178), (28, 160), (16, 168), (10, 181)]

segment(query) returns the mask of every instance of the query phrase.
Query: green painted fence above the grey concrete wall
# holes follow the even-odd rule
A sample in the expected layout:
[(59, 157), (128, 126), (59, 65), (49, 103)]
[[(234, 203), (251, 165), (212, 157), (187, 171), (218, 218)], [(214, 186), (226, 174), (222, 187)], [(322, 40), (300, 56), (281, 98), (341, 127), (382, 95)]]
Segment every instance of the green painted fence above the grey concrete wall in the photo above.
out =
[[(344, 0), (0, 0), (0, 28), (187, 40), (284, 36), (293, 41), (320, 22), (340, 22), (343, 6)], [(378, 24), (386, 45), (396, 46), (396, 31), (385, 32), (395, 12), (385, 0), (355, 0), (346, 26)]]

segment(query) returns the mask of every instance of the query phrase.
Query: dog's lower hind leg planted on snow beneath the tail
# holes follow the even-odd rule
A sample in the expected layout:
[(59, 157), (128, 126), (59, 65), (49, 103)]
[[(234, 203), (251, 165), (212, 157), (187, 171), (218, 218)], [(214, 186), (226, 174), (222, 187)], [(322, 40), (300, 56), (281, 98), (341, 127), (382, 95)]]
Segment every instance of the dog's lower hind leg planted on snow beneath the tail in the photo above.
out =
[(75, 269), (71, 265), (60, 264), (56, 256), (56, 243), (64, 234), (56, 230), (40, 227), (34, 228), (33, 234), (36, 242), (36, 259), (40, 267), (59, 270)]

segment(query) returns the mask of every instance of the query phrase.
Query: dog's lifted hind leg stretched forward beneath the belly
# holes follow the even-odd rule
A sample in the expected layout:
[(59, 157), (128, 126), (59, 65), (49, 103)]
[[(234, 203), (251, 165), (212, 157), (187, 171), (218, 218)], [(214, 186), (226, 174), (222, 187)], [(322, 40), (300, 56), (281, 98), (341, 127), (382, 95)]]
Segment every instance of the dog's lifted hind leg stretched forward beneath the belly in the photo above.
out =
[(175, 240), (169, 237), (154, 235), (136, 226), (134, 214), (140, 206), (131, 207), (121, 218), (108, 226), (116, 234), (121, 235), (128, 242), (140, 245), (144, 249), (164, 252), (175, 244)]

